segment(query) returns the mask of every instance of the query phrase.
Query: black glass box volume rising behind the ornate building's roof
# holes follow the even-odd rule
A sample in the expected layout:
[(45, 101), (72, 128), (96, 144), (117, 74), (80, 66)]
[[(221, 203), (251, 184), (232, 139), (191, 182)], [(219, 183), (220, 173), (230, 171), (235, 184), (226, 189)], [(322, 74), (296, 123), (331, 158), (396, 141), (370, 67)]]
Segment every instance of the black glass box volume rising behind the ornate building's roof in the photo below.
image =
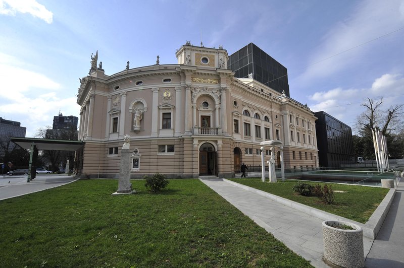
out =
[(287, 69), (264, 50), (249, 43), (229, 56), (227, 69), (237, 78), (254, 78), (272, 89), (290, 97)]

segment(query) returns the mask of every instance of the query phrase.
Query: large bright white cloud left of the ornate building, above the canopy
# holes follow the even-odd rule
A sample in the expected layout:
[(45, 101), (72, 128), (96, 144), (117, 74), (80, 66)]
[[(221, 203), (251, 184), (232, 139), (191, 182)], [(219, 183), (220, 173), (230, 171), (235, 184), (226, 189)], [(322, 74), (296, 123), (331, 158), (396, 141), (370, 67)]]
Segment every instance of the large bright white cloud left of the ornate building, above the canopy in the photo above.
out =
[(38, 127), (52, 125), (59, 110), (65, 115), (79, 113), (76, 97), (63, 98), (59, 83), (24, 69), (16, 57), (0, 53), (0, 81), (0, 115), (27, 127), (26, 137), (33, 137)]

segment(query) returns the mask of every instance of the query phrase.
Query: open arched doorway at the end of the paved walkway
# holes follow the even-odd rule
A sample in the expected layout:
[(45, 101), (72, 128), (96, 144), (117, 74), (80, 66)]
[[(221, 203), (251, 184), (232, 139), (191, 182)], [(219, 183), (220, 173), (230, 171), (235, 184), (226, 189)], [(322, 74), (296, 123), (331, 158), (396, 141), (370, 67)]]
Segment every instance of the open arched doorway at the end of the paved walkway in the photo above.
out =
[(218, 175), (218, 161), (215, 147), (210, 143), (204, 143), (199, 148), (199, 175)]

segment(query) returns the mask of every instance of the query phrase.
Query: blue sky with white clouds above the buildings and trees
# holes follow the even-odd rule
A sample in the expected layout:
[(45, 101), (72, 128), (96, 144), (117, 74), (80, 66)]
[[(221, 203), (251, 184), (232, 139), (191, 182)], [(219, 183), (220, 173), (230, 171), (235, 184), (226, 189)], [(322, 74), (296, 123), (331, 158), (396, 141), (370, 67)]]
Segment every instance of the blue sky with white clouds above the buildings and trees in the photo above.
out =
[(0, 116), (33, 137), (59, 110), (79, 116), (91, 53), (112, 75), (176, 63), (186, 40), (255, 43), (288, 69), (293, 99), (352, 127), (366, 98), (404, 103), (403, 0), (0, 0)]

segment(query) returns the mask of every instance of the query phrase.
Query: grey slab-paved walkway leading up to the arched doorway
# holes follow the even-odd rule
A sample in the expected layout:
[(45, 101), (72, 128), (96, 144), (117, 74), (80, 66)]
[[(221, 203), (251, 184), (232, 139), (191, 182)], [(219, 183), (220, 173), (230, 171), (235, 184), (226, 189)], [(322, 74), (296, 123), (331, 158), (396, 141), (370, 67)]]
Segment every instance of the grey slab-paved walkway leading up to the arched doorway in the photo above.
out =
[[(283, 205), (258, 192), (237, 187), (223, 179), (200, 179), (244, 215), (282, 241), (295, 253), (310, 260), (315, 267), (329, 267), (323, 257), (323, 219)], [(246, 201), (247, 200), (247, 201)], [(248, 204), (246, 204), (248, 203)], [(251, 207), (256, 208), (254, 210)], [(364, 256), (368, 254), (373, 239), (364, 237)]]

